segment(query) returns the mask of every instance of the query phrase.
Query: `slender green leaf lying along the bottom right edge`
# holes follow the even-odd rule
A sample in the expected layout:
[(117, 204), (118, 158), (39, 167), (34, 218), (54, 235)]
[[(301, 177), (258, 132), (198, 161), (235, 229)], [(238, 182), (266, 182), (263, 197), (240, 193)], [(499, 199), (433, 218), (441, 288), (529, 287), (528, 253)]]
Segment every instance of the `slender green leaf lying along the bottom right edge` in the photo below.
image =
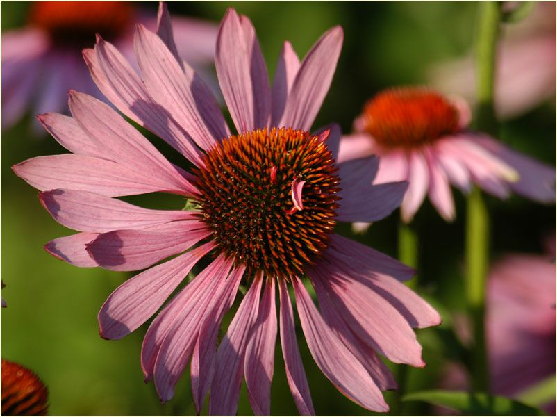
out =
[(474, 415), (542, 416), (543, 411), (509, 398), (464, 391), (419, 391), (405, 395), (403, 401), (422, 401)]

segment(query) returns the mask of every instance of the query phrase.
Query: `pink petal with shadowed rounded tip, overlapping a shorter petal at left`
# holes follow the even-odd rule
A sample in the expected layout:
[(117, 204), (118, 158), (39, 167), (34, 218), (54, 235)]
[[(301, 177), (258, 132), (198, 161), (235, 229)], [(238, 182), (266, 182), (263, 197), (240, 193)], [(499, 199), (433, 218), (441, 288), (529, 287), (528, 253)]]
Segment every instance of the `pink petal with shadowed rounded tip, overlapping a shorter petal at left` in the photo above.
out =
[(149, 230), (115, 230), (88, 243), (99, 266), (113, 271), (136, 271), (190, 249), (211, 232), (198, 220), (160, 224)]

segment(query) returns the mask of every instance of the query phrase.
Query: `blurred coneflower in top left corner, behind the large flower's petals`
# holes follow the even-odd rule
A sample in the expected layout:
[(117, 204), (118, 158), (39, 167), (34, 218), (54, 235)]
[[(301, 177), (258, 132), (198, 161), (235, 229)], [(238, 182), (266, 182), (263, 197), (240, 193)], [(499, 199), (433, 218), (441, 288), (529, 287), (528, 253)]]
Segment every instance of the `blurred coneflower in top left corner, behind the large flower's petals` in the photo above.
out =
[[(159, 12), (160, 15), (160, 12)], [(28, 11), (24, 28), (2, 34), (2, 126), (9, 127), (31, 108), (33, 113), (65, 111), (67, 90), (100, 96), (81, 60), (81, 49), (95, 34), (133, 57), (133, 26), (156, 28), (156, 17), (119, 1), (40, 1)], [(173, 19), (176, 45), (192, 65), (214, 57), (217, 26), (196, 19)], [(187, 47), (185, 44), (188, 44)]]

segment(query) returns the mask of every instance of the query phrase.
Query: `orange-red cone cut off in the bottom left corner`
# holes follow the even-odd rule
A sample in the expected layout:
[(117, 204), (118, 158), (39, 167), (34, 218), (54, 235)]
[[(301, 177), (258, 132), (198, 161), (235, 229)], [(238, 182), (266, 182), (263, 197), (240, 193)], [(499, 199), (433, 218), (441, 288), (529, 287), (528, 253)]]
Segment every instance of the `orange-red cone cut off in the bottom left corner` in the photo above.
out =
[(33, 371), (2, 359), (2, 414), (44, 416), (49, 391)]

